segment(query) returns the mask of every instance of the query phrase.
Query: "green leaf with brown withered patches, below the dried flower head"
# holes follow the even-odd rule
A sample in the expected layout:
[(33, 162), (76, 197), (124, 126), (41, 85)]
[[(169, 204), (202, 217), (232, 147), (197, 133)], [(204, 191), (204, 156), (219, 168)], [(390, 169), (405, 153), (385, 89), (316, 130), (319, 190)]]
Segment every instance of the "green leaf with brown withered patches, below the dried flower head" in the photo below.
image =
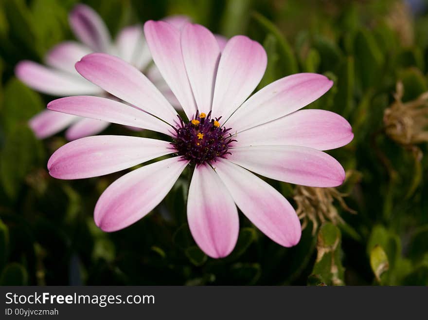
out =
[(326, 285), (343, 285), (344, 268), (340, 257), (341, 235), (337, 226), (326, 223), (318, 232), (317, 260), (312, 275)]

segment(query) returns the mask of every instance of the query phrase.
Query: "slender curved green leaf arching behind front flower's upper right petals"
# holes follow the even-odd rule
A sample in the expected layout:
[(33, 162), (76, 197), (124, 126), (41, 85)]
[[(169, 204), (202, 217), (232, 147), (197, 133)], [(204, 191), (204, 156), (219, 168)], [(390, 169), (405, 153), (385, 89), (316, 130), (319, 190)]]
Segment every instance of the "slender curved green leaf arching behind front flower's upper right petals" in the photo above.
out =
[(279, 68), (281, 70), (281, 77), (297, 73), (298, 69), (296, 56), (294, 55), (291, 46), (278, 30), (276, 25), (257, 12), (253, 13), (253, 17), (263, 28), (265, 28), (267, 33), (272, 34), (277, 40), (278, 54), (281, 57), (281, 59), (278, 61)]

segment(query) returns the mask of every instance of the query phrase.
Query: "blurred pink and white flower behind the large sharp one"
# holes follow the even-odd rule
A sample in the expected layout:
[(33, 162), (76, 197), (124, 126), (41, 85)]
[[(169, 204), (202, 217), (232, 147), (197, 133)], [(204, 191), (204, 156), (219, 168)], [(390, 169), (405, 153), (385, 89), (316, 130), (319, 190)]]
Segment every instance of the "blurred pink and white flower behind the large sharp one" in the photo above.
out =
[[(152, 61), (150, 51), (144, 41), (143, 27), (140, 25), (124, 28), (112, 42), (107, 26), (100, 16), (84, 4), (78, 4), (71, 11), (71, 30), (81, 43), (65, 41), (48, 52), (45, 62), (48, 67), (33, 61), (24, 60), (16, 67), (17, 77), (29, 87), (45, 94), (68, 96), (91, 94), (107, 96), (99, 87), (93, 85), (77, 74), (74, 64), (81, 57), (91, 52), (105, 52), (120, 56), (147, 76), (158, 86), (161, 92), (179, 107), (174, 94), (163, 81)], [(180, 28), (188, 19), (183, 16), (172, 16), (165, 21)], [(92, 135), (103, 131), (109, 123), (97, 119), (85, 119), (70, 114), (42, 111), (34, 116), (29, 125), (40, 139), (70, 128), (66, 132), (69, 140)], [(132, 128), (129, 128), (132, 129)]]

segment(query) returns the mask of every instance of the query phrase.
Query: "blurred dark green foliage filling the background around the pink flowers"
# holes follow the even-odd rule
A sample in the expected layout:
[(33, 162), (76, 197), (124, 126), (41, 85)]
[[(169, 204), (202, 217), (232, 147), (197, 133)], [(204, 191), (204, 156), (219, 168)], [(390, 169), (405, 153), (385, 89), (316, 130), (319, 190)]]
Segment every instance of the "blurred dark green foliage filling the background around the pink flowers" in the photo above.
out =
[[(66, 143), (64, 135), (40, 141), (28, 121), (54, 97), (14, 75), (20, 60), (43, 64), (55, 45), (74, 40), (68, 15), (78, 1), (1, 1), (0, 284), (428, 285), (427, 142), (411, 138), (427, 130), (422, 117), (414, 116), (426, 109), (427, 1), (83, 2), (115, 39), (126, 26), (171, 15), (185, 15), (227, 38), (247, 35), (268, 56), (258, 89), (297, 72), (333, 79), (332, 89), (307, 108), (339, 113), (351, 123), (352, 143), (328, 153), (358, 174), (328, 194), (266, 179), (288, 199), (295, 196), (295, 209), (304, 204), (307, 226), (292, 248), (273, 243), (239, 213), (235, 249), (224, 259), (207, 257), (182, 209), (185, 177), (153, 213), (104, 233), (93, 223), (92, 210), (124, 172), (51, 178), (47, 159)], [(406, 143), (404, 132), (412, 133)], [(156, 137), (122, 126), (104, 133)], [(339, 200), (343, 194), (346, 206)]]

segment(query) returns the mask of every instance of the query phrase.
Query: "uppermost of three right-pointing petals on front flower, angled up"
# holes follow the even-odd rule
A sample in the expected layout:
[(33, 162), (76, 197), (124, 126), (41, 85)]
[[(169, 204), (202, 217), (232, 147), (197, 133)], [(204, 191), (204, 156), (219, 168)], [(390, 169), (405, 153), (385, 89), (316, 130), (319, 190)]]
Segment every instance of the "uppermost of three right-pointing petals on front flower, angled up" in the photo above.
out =
[(332, 85), (324, 75), (288, 75), (252, 95), (232, 114), (227, 126), (240, 132), (281, 118), (317, 100)]

